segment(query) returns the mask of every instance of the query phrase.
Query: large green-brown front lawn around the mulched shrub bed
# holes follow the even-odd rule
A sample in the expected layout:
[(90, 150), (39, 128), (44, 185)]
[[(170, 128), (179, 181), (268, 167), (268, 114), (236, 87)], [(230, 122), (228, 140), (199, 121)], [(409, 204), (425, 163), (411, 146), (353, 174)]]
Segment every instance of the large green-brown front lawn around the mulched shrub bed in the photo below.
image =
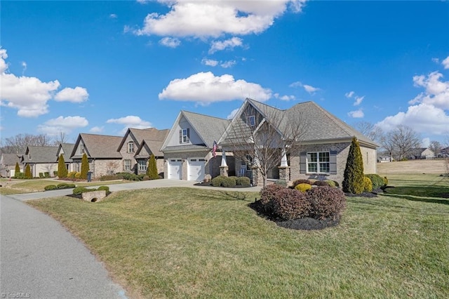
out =
[(161, 188), (89, 203), (28, 204), (53, 215), (145, 298), (449, 298), (449, 205), (348, 198), (337, 227), (277, 227), (246, 193)]

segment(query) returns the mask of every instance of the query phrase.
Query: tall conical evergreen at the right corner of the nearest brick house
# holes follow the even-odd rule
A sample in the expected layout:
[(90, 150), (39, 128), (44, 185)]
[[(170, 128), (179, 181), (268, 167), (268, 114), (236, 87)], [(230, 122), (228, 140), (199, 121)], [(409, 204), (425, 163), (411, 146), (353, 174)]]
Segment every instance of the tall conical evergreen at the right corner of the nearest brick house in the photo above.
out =
[(351, 147), (344, 168), (343, 192), (361, 194), (363, 192), (363, 158), (357, 139), (352, 138)]

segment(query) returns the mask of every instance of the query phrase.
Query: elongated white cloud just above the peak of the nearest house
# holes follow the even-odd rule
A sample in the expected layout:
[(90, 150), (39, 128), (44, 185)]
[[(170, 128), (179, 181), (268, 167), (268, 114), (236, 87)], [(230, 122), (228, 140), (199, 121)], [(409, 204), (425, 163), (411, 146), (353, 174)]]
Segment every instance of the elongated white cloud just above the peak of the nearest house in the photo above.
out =
[(197, 102), (201, 105), (244, 98), (264, 102), (271, 97), (269, 88), (242, 79), (235, 80), (230, 74), (215, 76), (212, 72), (199, 72), (185, 79), (174, 79), (159, 93), (159, 100)]

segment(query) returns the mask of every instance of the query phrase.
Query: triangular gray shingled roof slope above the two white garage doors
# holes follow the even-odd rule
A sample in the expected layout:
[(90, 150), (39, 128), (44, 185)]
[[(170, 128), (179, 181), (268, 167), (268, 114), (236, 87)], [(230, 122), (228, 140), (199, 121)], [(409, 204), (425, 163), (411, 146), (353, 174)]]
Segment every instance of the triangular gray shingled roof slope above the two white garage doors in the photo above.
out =
[(229, 119), (209, 117), (194, 112), (182, 111), (182, 114), (184, 114), (184, 117), (189, 121), (209, 149), (213, 147), (213, 141), (218, 141), (223, 133), (225, 133), (230, 123)]

